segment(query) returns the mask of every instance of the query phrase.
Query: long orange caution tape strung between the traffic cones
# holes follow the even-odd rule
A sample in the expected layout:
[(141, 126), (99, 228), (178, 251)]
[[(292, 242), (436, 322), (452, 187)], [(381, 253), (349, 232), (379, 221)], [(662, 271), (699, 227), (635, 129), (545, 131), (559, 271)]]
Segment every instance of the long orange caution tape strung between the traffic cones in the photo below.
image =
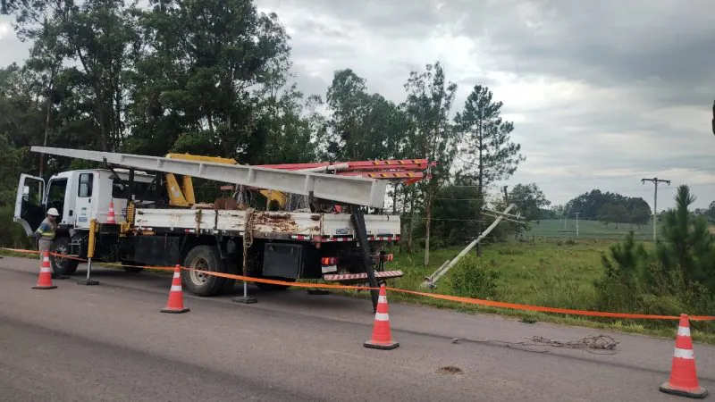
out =
[[(38, 251), (33, 251), (33, 250), (21, 250), (21, 249), (4, 248), (4, 247), (3, 247), (3, 249), (7, 250), (7, 251), (12, 251), (15, 253), (24, 253), (24, 254), (38, 254), (39, 253)], [(66, 255), (60, 255), (60, 254), (55, 254), (55, 253), (50, 253), (50, 254), (55, 255), (55, 256), (62, 256), (65, 258), (76, 259), (76, 260), (80, 260), (80, 261), (87, 261), (87, 260), (77, 258), (77, 257), (68, 257)], [(161, 271), (173, 271), (174, 270), (174, 267), (172, 267), (172, 266), (124, 265), (124, 264), (113, 264), (113, 263), (102, 263), (102, 264), (118, 266), (118, 267), (147, 268), (147, 269), (154, 269), (154, 270), (161, 270)], [(290, 287), (295, 287), (295, 288), (352, 289), (352, 290), (378, 290), (379, 289), (379, 288), (371, 288), (369, 286), (349, 286), (349, 285), (331, 285), (331, 284), (327, 284), (327, 283), (302, 283), (302, 282), (275, 281), (275, 280), (267, 280), (264, 278), (254, 278), (254, 277), (250, 277), (250, 276), (234, 275), (232, 273), (197, 270), (194, 268), (188, 268), (188, 267), (184, 267), (184, 266), (182, 266), (181, 269), (184, 271), (194, 271), (194, 272), (206, 273), (207, 275), (214, 275), (214, 276), (218, 276), (221, 278), (233, 279), (236, 281), (258, 282), (258, 283), (267, 283), (267, 284), (272, 284), (272, 285), (284, 285), (284, 286), (290, 286)], [(608, 313), (608, 312), (588, 311), (588, 310), (574, 310), (574, 309), (570, 309), (570, 308), (521, 305), (521, 304), (517, 304), (517, 303), (506, 303), (506, 302), (500, 302), (500, 301), (483, 300), (480, 298), (449, 296), (449, 295), (441, 295), (438, 293), (425, 293), (425, 292), (418, 292), (415, 290), (408, 290), (408, 289), (398, 289), (398, 288), (385, 288), (385, 289), (393, 291), (393, 292), (408, 294), (408, 295), (421, 296), (421, 297), (432, 297), (432, 298), (437, 298), (437, 299), (441, 299), (441, 300), (453, 301), (453, 302), (457, 302), (457, 303), (466, 303), (469, 305), (509, 308), (512, 310), (535, 311), (535, 312), (540, 312), (540, 313), (571, 314), (571, 315), (585, 315), (585, 316), (591, 316), (591, 317), (609, 317), (609, 318), (626, 318), (626, 319), (643, 319), (643, 320), (679, 320), (680, 319), (680, 317), (676, 316), (676, 315), (628, 314), (628, 313)], [(715, 321), (715, 316), (713, 316), (713, 315), (689, 315), (688, 319), (691, 321)]]

